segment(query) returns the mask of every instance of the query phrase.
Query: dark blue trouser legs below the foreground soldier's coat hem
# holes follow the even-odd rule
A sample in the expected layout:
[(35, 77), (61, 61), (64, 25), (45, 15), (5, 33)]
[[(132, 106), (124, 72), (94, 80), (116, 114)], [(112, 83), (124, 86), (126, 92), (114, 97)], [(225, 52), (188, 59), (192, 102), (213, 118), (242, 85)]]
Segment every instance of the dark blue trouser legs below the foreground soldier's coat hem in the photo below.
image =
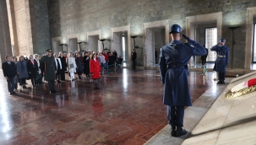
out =
[(167, 109), (167, 119), (171, 126), (183, 126), (183, 118), (184, 118), (184, 106), (170, 106), (166, 105)]

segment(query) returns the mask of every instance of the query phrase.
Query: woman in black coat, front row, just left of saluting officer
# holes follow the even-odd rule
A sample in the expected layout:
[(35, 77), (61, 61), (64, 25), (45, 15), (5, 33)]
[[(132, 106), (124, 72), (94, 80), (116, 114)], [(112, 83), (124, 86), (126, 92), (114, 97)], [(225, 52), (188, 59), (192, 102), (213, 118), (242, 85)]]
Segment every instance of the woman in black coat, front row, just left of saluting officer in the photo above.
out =
[(32, 83), (33, 87), (35, 88), (36, 75), (38, 74), (39, 69), (38, 69), (38, 64), (35, 61), (33, 55), (30, 55), (30, 60), (27, 62), (27, 67), (28, 67), (28, 73), (29, 73), (29, 77), (31, 79), (31, 83)]

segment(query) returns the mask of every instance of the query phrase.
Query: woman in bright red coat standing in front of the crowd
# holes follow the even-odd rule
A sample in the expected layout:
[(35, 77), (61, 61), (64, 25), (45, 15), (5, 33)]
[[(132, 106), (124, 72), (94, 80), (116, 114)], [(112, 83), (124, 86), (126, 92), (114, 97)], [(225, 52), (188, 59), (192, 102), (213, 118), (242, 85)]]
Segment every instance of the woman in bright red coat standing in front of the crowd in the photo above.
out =
[(101, 65), (100, 62), (96, 56), (96, 54), (92, 54), (90, 59), (90, 73), (91, 78), (93, 79), (95, 89), (99, 89), (99, 78), (101, 78)]

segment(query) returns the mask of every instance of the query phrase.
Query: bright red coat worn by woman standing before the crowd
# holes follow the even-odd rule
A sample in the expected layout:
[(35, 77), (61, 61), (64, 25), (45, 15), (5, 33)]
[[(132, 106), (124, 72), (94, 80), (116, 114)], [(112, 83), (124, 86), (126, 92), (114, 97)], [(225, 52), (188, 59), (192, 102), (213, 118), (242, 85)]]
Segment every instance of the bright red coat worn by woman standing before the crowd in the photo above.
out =
[(90, 73), (92, 79), (101, 78), (101, 65), (98, 59), (91, 59), (90, 60)]

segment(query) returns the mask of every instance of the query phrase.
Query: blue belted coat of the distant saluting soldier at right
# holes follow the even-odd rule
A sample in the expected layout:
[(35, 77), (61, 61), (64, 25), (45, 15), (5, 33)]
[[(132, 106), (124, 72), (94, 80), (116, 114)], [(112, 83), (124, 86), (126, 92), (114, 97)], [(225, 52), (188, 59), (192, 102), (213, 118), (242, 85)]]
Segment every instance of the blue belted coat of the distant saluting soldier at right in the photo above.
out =
[(219, 73), (226, 73), (226, 65), (229, 59), (229, 48), (227, 46), (213, 46), (210, 51), (217, 52), (214, 70)]

